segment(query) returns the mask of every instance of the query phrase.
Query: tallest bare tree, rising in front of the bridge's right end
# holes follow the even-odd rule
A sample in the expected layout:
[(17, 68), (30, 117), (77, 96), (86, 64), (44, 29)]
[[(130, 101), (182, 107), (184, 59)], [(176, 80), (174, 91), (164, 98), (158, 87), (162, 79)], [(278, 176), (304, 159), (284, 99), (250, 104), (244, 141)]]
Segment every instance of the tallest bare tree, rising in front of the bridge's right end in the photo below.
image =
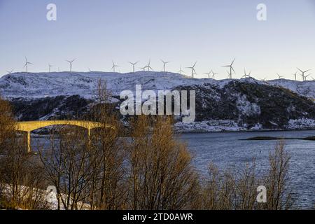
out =
[(121, 123), (113, 104), (109, 102), (110, 93), (105, 81), (99, 80), (96, 92), (97, 105), (88, 118), (102, 124), (101, 128), (92, 131), (91, 136), (91, 146), (101, 160), (99, 169), (93, 173), (90, 204), (93, 209), (126, 209), (125, 150)]

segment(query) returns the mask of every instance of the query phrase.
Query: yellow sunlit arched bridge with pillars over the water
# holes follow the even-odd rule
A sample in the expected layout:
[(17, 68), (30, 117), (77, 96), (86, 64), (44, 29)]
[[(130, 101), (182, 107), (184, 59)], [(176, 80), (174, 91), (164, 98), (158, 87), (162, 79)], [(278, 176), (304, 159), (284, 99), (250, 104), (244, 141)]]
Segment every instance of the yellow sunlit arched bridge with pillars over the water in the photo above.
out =
[(77, 127), (83, 127), (87, 129), (87, 134), (90, 137), (90, 130), (97, 127), (109, 127), (110, 125), (104, 125), (103, 123), (97, 123), (86, 120), (34, 120), (34, 121), (21, 121), (15, 125), (15, 130), (20, 132), (27, 132), (27, 153), (31, 152), (31, 131), (38, 130), (42, 127), (48, 127), (52, 125), (72, 125)]

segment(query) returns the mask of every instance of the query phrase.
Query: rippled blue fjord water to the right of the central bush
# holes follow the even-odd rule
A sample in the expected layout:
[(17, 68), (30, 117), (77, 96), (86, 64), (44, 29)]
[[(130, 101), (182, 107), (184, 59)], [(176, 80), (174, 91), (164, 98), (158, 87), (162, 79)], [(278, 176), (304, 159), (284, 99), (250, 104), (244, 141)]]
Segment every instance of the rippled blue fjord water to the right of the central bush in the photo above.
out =
[[(206, 176), (213, 162), (219, 169), (241, 169), (255, 158), (258, 171), (268, 169), (268, 156), (277, 141), (241, 141), (250, 137), (303, 138), (315, 136), (315, 131), (292, 132), (223, 132), (181, 134), (179, 139), (188, 144), (193, 162), (200, 174)], [(315, 141), (286, 140), (290, 153), (290, 187), (295, 190), (296, 206), (314, 209), (315, 206)]]

